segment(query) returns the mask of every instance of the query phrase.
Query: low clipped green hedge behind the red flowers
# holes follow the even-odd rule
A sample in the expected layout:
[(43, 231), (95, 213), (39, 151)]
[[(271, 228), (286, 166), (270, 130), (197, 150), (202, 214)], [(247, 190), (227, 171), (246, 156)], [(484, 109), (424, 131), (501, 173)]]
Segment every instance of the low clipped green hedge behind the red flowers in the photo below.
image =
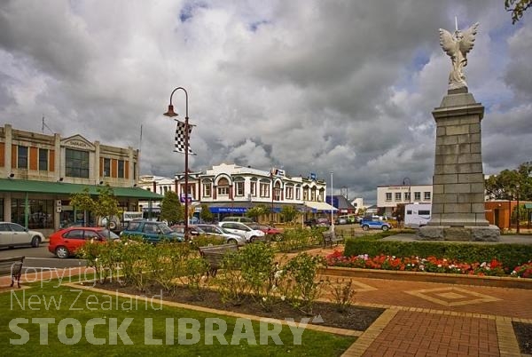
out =
[(435, 257), (455, 259), (464, 263), (489, 262), (496, 258), (504, 266), (513, 268), (532, 259), (532, 244), (481, 244), (467, 242), (396, 242), (361, 238), (348, 239), (344, 256), (380, 254), (395, 257)]

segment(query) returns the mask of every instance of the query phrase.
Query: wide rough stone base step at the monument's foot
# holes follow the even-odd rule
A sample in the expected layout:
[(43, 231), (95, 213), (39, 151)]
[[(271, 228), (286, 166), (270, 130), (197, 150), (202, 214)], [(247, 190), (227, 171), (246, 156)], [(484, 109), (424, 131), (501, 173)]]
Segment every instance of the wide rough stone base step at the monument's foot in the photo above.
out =
[(499, 242), (498, 226), (422, 226), (417, 234), (419, 241)]

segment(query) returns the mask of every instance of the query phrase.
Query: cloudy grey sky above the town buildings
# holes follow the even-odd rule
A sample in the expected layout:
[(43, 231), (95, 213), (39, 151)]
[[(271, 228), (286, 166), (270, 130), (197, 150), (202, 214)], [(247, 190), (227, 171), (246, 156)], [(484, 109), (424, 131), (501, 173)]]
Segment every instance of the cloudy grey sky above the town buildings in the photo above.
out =
[[(450, 59), (438, 28), (480, 22), (465, 75), (486, 107), (484, 173), (532, 153), (532, 10), (504, 0), (0, 2), (0, 123), (141, 148), (141, 173), (184, 170), (170, 92), (189, 93), (194, 171), (251, 165), (335, 194), (430, 184), (432, 110)], [(184, 118), (184, 92), (174, 95)], [(142, 140), (140, 132), (142, 126)]]

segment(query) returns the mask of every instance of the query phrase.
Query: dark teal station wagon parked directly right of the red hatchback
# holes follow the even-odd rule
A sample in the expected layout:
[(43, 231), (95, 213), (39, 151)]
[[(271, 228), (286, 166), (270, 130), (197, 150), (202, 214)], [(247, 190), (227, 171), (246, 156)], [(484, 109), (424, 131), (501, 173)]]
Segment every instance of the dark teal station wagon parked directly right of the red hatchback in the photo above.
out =
[(145, 242), (157, 243), (168, 239), (170, 242), (183, 242), (184, 234), (177, 233), (162, 222), (152, 222), (146, 219), (129, 221), (128, 226), (121, 231), (120, 236), (135, 235), (142, 237)]

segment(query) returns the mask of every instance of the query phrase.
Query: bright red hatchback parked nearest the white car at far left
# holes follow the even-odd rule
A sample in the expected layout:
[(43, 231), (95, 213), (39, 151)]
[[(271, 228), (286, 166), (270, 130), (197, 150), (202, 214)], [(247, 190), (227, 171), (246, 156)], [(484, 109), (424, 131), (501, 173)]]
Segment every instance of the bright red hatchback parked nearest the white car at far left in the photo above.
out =
[(82, 245), (90, 240), (105, 242), (119, 236), (101, 226), (71, 226), (50, 235), (48, 250), (59, 259), (71, 257)]

